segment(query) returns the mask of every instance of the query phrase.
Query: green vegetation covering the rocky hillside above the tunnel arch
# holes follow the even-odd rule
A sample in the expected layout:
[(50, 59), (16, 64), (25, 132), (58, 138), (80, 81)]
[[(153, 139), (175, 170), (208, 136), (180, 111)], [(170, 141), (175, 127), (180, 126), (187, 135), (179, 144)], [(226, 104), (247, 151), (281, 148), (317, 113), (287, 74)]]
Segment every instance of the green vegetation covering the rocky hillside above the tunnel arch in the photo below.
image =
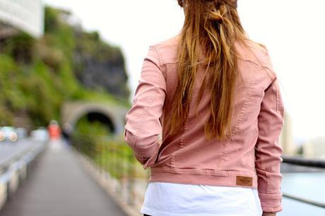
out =
[[(20, 33), (0, 41), (0, 125), (45, 126), (51, 119), (59, 120), (62, 103), (71, 100), (130, 105), (126, 82), (121, 84), (123, 94), (114, 95), (86, 88), (79, 81), (85, 68), (81, 56), (95, 62), (109, 59), (123, 70), (124, 58), (118, 47), (102, 42), (97, 32), (69, 24), (69, 16), (67, 11), (46, 7), (42, 38)], [(96, 127), (99, 133), (100, 127)]]

